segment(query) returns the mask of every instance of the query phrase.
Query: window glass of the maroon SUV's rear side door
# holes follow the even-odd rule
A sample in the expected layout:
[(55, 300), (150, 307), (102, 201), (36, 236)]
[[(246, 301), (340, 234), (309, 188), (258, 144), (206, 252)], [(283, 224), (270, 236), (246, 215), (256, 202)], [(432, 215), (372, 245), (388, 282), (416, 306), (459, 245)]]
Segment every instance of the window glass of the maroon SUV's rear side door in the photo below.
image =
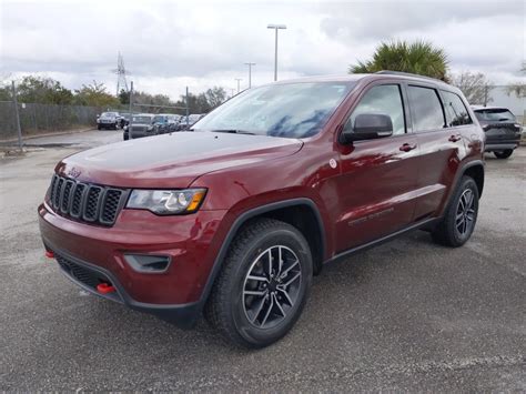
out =
[(435, 89), (412, 87), (407, 89), (413, 109), (413, 129), (415, 132), (443, 129), (444, 111)]

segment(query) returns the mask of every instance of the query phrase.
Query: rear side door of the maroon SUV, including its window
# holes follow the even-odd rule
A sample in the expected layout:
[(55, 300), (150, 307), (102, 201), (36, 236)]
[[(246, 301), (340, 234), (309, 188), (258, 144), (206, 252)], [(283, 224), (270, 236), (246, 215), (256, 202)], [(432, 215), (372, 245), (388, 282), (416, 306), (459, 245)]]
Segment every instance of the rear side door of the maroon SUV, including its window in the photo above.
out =
[[(466, 154), (462, 125), (448, 124), (443, 98), (433, 84), (408, 83), (413, 132), (418, 140), (418, 185), (414, 220), (441, 211)], [(452, 108), (447, 108), (449, 113)], [(447, 118), (451, 118), (449, 115)]]

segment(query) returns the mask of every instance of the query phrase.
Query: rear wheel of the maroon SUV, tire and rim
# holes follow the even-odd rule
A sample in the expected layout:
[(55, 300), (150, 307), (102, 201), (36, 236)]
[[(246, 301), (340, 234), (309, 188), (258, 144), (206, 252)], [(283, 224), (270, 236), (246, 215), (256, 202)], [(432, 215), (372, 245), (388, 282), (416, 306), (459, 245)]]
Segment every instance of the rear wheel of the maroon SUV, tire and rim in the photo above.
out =
[(458, 247), (473, 234), (478, 214), (478, 188), (473, 178), (464, 175), (447, 205), (444, 218), (432, 232), (442, 245)]

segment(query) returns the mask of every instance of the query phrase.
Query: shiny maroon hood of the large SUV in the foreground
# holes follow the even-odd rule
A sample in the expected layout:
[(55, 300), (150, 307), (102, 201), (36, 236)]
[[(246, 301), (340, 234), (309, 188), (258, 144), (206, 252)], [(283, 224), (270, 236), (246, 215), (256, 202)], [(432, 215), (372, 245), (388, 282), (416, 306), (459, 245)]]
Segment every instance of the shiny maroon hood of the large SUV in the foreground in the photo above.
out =
[(180, 132), (118, 142), (63, 159), (55, 171), (120, 188), (188, 188), (199, 176), (297, 152), (303, 142), (265, 135)]

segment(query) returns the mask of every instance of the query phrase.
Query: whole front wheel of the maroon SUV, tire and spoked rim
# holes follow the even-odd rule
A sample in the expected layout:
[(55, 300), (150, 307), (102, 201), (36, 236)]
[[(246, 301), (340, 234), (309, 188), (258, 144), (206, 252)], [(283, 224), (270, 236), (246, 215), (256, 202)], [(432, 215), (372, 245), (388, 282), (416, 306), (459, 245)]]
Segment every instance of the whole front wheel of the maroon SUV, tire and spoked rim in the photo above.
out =
[[(269, 281), (265, 272), (272, 261), (274, 275)], [(296, 228), (273, 219), (251, 221), (226, 253), (204, 309), (205, 319), (239, 346), (269, 346), (300, 317), (312, 274), (311, 250)]]

